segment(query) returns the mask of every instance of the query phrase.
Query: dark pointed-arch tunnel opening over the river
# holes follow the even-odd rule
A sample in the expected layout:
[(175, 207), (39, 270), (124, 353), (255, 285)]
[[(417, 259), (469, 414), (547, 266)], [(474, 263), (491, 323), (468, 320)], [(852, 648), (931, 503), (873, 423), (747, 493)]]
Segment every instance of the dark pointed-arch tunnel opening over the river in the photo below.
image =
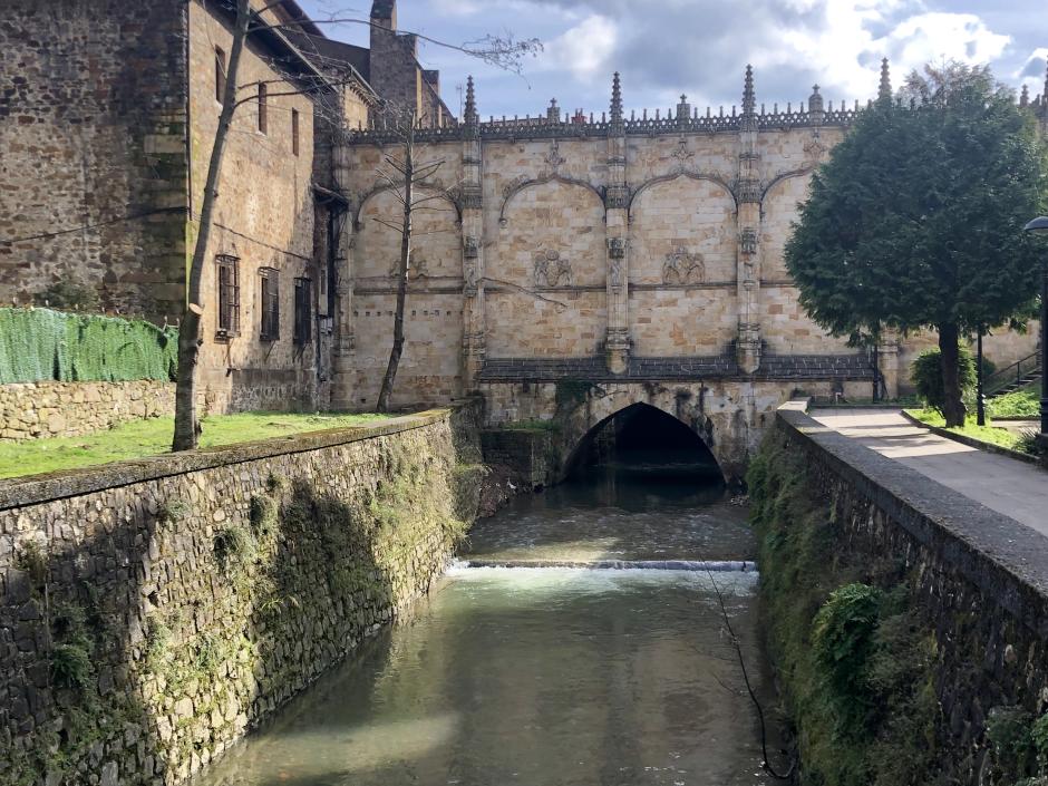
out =
[(672, 415), (648, 404), (594, 426), (572, 456), (570, 481), (644, 488), (660, 497), (724, 494), (724, 473), (709, 446)]

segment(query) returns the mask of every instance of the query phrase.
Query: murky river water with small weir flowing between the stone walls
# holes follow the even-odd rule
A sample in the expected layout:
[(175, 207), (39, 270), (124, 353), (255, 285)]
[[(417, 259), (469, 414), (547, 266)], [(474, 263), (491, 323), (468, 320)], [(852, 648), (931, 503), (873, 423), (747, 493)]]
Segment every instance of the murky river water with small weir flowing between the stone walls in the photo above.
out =
[[(678, 468), (675, 468), (675, 472)], [(591, 472), (481, 523), (469, 559), (741, 560), (719, 489)], [(656, 483), (656, 478), (663, 478)], [(208, 774), (208, 786), (769, 783), (718, 592), (766, 706), (753, 572), (453, 567)]]

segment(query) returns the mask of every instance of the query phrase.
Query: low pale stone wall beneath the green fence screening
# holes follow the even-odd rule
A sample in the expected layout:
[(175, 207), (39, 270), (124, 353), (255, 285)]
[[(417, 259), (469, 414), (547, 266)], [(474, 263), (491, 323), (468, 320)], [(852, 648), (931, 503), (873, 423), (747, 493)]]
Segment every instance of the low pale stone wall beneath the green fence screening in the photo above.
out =
[(174, 382), (0, 385), (0, 440), (72, 437), (174, 411)]

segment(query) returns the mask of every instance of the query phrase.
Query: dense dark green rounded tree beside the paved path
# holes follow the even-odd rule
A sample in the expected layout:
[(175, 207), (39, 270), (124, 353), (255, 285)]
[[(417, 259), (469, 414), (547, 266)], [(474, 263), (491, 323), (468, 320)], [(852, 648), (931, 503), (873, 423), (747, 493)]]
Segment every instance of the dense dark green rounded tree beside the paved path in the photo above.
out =
[(959, 339), (1029, 312), (1039, 262), (1022, 226), (1045, 185), (1034, 118), (988, 68), (914, 71), (812, 178), (785, 253), (800, 303), (852, 343), (937, 330), (943, 416), (962, 425)]

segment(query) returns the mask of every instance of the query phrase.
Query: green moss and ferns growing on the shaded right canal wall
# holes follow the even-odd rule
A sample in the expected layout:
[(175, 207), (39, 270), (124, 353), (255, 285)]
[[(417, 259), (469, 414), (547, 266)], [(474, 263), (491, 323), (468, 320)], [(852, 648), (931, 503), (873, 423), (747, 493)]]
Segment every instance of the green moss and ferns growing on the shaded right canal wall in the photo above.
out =
[(768, 647), (800, 782), (939, 784), (933, 630), (890, 556), (854, 552), (804, 456), (773, 437), (748, 475)]

